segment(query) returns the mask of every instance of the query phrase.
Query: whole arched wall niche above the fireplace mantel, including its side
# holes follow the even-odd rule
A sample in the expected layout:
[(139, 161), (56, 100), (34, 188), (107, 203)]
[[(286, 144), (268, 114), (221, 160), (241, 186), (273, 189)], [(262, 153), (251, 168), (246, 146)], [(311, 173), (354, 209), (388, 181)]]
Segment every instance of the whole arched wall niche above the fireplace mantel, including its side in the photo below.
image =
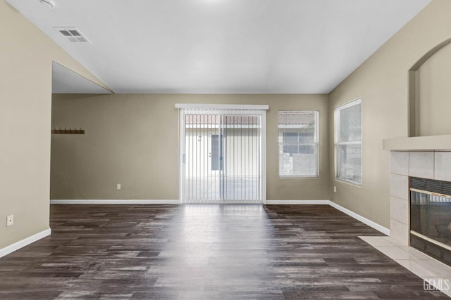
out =
[(409, 136), (451, 134), (451, 38), (409, 70)]

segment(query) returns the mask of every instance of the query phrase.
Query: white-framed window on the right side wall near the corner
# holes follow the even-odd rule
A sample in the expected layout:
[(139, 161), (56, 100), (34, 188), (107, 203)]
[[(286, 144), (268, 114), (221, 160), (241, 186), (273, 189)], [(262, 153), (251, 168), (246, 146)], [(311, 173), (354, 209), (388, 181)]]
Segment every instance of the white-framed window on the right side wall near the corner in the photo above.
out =
[(362, 185), (362, 99), (335, 108), (335, 178)]

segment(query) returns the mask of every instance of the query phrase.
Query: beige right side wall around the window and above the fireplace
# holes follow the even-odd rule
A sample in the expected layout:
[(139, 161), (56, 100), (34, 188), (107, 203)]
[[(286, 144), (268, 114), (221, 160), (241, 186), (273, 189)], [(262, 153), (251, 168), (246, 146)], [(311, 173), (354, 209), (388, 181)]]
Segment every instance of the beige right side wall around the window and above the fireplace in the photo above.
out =
[[(450, 11), (451, 1), (432, 1), (329, 95), (330, 120), (334, 107), (362, 97), (362, 187), (333, 180), (333, 201), (385, 227), (390, 223), (389, 153), (382, 150), (382, 140), (407, 137), (408, 70), (451, 37)], [(332, 121), (329, 128), (333, 162)]]

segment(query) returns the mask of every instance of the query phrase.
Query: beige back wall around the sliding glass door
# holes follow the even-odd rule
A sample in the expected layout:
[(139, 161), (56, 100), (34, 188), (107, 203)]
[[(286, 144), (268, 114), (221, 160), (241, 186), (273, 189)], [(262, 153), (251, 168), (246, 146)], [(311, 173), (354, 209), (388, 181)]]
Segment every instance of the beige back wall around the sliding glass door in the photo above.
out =
[[(330, 198), (328, 96), (117, 94), (54, 95), (52, 126), (85, 135), (51, 137), (51, 199), (177, 200), (175, 103), (268, 104), (267, 199)], [(278, 110), (319, 110), (319, 178), (278, 178)]]

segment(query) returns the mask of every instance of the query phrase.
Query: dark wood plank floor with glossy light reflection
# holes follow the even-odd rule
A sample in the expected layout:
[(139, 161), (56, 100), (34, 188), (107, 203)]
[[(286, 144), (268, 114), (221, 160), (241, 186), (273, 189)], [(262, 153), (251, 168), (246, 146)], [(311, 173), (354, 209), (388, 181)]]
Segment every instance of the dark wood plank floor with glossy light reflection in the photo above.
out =
[(327, 205), (51, 205), (0, 299), (447, 299)]

